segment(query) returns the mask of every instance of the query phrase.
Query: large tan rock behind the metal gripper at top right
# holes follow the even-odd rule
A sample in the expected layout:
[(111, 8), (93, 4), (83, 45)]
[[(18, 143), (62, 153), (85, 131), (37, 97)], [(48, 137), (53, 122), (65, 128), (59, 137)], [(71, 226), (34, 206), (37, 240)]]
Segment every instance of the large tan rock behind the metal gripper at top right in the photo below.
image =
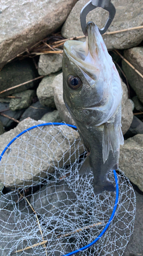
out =
[[(62, 35), (66, 38), (82, 36), (83, 32), (80, 26), (80, 11), (87, 4), (87, 0), (79, 0), (73, 7), (63, 28)], [(112, 0), (116, 7), (116, 16), (113, 19), (108, 31), (122, 30), (137, 26), (142, 26), (143, 13), (140, 9), (142, 0)], [(108, 12), (102, 8), (97, 8), (87, 15), (87, 21), (92, 20), (99, 28), (105, 26), (108, 18)], [(141, 29), (103, 36), (108, 49), (126, 49), (138, 45), (143, 39)]]

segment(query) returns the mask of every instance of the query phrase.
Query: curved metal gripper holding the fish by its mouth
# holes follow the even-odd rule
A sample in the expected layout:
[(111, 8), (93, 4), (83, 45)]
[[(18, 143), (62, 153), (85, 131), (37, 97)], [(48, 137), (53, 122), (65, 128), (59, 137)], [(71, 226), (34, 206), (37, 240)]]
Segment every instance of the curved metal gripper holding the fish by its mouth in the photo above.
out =
[(115, 14), (116, 14), (116, 8), (115, 8), (115, 6), (112, 3), (110, 3), (110, 1), (111, 0), (90, 0), (82, 8), (82, 10), (80, 12), (80, 24), (81, 24), (81, 28), (82, 28), (83, 34), (85, 36), (88, 36), (88, 32), (87, 32), (87, 29), (86, 29), (86, 26), (87, 26), (87, 21), (86, 21), (87, 14), (90, 11), (92, 11), (93, 9), (97, 8), (97, 7), (101, 7), (101, 8), (103, 8), (106, 11), (109, 12), (109, 17), (107, 19), (105, 27), (102, 28), (102, 29), (99, 29), (101, 35), (106, 32), (106, 30), (110, 26), (113, 18), (115, 17)]

